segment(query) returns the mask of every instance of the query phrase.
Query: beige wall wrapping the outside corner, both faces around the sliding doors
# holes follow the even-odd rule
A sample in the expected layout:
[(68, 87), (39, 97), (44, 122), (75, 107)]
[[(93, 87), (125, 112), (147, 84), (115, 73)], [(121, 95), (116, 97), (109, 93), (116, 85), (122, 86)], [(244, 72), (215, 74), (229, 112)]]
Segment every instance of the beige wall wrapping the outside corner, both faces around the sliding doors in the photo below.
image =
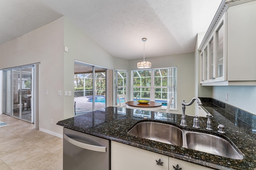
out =
[[(57, 136), (62, 135), (62, 127), (56, 123), (74, 116), (74, 60), (128, 69), (128, 61), (112, 57), (65, 17), (0, 45), (0, 53), (0, 69), (40, 62), (39, 128)], [(64, 96), (64, 91), (72, 91), (72, 96)]]

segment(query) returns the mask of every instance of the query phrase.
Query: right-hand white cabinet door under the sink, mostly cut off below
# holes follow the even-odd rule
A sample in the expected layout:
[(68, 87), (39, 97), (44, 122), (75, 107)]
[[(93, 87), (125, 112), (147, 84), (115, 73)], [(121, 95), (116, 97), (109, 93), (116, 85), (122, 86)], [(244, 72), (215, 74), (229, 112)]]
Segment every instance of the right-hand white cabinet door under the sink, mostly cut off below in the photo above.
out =
[(213, 170), (212, 168), (169, 157), (169, 170), (180, 170), (178, 167), (182, 170)]

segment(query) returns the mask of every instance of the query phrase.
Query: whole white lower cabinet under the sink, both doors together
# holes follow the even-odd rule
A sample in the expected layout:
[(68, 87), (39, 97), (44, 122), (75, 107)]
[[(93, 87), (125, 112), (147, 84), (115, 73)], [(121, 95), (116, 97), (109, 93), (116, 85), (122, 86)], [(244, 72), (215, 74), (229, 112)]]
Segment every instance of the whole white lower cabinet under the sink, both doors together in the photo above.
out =
[[(158, 165), (161, 164), (160, 160), (162, 165)], [(177, 169), (177, 165), (182, 170), (212, 170), (211, 168), (111, 141), (111, 170), (180, 170)]]

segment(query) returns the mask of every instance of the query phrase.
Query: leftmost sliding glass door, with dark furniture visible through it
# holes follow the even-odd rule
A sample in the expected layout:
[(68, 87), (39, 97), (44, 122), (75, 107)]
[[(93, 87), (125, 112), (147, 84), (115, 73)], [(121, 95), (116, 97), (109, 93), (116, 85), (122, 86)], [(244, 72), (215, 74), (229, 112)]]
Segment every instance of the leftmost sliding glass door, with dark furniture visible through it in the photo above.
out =
[(4, 113), (34, 123), (34, 66), (4, 70)]

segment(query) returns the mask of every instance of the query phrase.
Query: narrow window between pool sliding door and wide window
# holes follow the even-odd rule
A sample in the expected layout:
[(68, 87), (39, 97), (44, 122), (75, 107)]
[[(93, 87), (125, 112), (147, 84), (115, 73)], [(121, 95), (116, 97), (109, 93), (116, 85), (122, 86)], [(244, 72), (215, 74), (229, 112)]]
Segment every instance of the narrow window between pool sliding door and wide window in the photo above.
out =
[(115, 70), (116, 82), (116, 105), (118, 104), (117, 95), (125, 94), (127, 89), (127, 70)]

